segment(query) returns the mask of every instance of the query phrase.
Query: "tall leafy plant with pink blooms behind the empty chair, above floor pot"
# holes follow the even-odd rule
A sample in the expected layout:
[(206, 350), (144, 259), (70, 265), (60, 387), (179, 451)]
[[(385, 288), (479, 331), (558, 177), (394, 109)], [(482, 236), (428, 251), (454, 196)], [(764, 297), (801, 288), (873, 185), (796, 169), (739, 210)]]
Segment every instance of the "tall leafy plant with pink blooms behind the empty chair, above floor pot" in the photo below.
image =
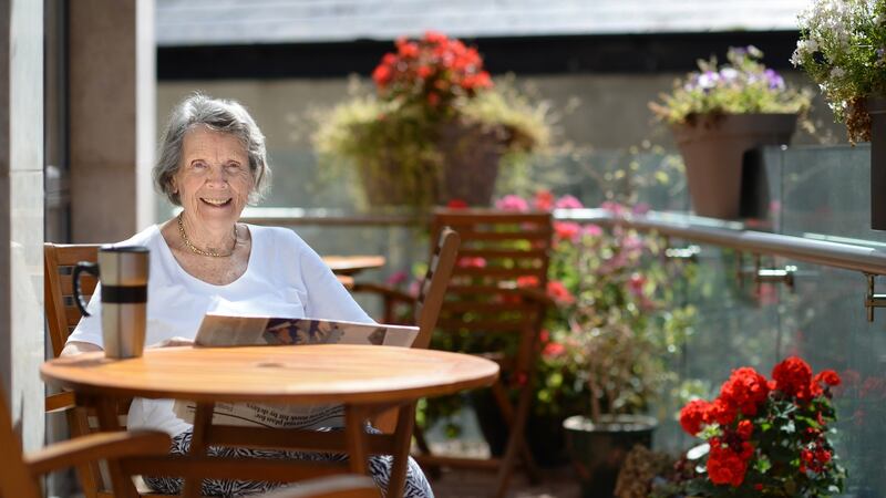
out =
[[(506, 196), (497, 207), (529, 203)], [(571, 196), (539, 191), (535, 209), (578, 209)], [(615, 216), (629, 210), (605, 203)], [(642, 211), (638, 207), (637, 211)], [(542, 336), (535, 409), (542, 415), (645, 411), (673, 374), (668, 360), (691, 332), (694, 308), (678, 303), (692, 263), (664, 258), (661, 237), (570, 221), (555, 224), (548, 294), (558, 303)], [(517, 282), (519, 284), (519, 282)]]

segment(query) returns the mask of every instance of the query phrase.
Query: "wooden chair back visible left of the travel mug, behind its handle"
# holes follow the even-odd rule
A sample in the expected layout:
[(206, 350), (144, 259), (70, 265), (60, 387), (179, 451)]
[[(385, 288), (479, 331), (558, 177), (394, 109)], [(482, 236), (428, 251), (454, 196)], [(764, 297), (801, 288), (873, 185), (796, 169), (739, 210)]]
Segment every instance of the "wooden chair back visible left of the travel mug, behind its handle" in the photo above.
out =
[[(58, 357), (68, 336), (80, 322), (80, 309), (74, 303), (72, 272), (80, 261), (96, 262), (99, 245), (43, 245), (43, 292), (52, 353)], [(81, 291), (89, 300), (97, 280), (91, 274), (81, 278)]]

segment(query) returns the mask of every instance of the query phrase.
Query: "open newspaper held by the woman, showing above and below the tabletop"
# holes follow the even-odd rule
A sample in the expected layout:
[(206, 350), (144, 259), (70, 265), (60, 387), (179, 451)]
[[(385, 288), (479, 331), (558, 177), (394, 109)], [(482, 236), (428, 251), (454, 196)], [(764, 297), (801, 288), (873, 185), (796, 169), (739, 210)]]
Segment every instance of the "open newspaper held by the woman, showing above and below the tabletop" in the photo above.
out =
[[(207, 313), (203, 318), (197, 346), (373, 344), (409, 347), (419, 335), (416, 326), (383, 325), (316, 319), (233, 317)], [(194, 423), (196, 404), (176, 400), (173, 412)], [(258, 403), (216, 403), (213, 424), (256, 427), (316, 429), (341, 427), (344, 413), (340, 405), (272, 405)]]

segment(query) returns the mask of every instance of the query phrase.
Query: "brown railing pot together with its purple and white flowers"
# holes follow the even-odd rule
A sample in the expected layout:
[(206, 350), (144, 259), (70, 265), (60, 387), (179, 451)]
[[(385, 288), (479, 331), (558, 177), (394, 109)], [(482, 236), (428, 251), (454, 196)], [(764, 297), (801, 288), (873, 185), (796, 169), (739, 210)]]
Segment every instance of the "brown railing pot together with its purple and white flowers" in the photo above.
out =
[(786, 144), (808, 108), (808, 94), (787, 86), (762, 58), (748, 46), (729, 49), (720, 66), (714, 58), (700, 60), (699, 71), (677, 81), (661, 103), (650, 103), (674, 134), (698, 215), (736, 218), (745, 153)]

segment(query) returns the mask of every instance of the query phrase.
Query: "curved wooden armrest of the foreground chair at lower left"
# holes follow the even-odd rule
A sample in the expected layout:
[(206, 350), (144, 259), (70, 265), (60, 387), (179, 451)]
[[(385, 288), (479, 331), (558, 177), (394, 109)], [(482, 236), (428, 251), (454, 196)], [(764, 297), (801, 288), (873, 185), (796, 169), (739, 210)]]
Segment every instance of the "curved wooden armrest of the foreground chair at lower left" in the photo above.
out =
[(55, 443), (24, 456), (33, 476), (62, 467), (73, 467), (100, 459), (135, 455), (163, 455), (169, 452), (172, 439), (157, 430), (99, 433)]

